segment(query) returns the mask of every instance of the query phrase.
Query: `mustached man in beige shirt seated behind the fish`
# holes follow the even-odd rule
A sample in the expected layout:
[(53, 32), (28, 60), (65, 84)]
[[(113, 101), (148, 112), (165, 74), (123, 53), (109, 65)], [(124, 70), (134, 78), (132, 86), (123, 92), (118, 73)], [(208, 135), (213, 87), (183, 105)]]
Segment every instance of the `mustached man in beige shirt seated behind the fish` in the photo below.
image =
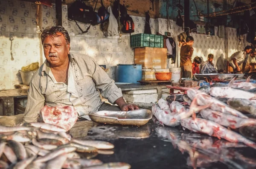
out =
[[(37, 121), (44, 105), (74, 106), (79, 116), (87, 119), (89, 113), (100, 110), (139, 109), (124, 101), (121, 89), (93, 58), (70, 53), (70, 37), (62, 26), (45, 28), (41, 41), (46, 60), (29, 84), (23, 121)], [(118, 106), (102, 102), (100, 94)]]

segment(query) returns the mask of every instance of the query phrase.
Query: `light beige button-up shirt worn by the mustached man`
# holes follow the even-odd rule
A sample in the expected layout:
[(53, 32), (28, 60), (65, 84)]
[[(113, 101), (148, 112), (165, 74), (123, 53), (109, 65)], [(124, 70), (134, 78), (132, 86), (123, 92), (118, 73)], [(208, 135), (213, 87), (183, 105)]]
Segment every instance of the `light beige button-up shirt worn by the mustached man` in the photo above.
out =
[(71, 105), (82, 116), (98, 111), (102, 104), (100, 93), (112, 104), (122, 97), (121, 89), (93, 58), (84, 54), (70, 54), (69, 59), (67, 85), (55, 80), (47, 60), (32, 77), (24, 121), (37, 121), (44, 105)]

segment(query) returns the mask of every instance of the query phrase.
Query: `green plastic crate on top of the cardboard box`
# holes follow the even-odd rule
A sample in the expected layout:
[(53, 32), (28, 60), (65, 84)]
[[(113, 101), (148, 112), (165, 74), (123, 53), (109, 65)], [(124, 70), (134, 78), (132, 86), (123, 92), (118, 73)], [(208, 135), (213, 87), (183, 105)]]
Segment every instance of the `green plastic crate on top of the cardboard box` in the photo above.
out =
[(153, 34), (131, 35), (131, 48), (139, 47), (163, 48), (163, 36)]

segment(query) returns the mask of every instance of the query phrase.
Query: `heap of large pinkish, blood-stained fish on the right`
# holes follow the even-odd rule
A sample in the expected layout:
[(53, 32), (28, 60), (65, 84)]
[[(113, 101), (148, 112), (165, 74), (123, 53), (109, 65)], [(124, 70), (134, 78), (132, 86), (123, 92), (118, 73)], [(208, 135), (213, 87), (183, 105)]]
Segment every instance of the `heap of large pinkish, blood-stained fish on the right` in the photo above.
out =
[[(244, 113), (256, 113), (256, 86), (249, 82), (213, 84), (170, 95), (154, 104), (152, 112), (160, 124), (204, 133), (230, 142), (241, 142), (256, 149), (256, 143), (230, 129), (256, 125)], [(200, 112), (199, 117), (195, 113)], [(192, 117), (191, 117), (192, 116)], [(227, 127), (227, 128), (226, 128)]]

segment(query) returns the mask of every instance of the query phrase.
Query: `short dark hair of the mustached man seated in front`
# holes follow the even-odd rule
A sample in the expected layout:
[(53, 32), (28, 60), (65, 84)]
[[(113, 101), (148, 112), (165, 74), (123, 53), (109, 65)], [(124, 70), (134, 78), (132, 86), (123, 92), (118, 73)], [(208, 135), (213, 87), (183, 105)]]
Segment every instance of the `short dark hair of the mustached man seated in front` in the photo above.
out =
[(64, 38), (66, 39), (67, 45), (70, 44), (69, 34), (68, 34), (67, 30), (65, 28), (63, 28), (62, 26), (48, 26), (48, 27), (44, 28), (41, 32), (42, 32), (42, 34), (41, 34), (42, 44), (44, 44), (44, 39), (48, 36), (54, 36), (54, 37), (61, 36), (61, 35), (57, 34), (58, 32), (63, 34)]

